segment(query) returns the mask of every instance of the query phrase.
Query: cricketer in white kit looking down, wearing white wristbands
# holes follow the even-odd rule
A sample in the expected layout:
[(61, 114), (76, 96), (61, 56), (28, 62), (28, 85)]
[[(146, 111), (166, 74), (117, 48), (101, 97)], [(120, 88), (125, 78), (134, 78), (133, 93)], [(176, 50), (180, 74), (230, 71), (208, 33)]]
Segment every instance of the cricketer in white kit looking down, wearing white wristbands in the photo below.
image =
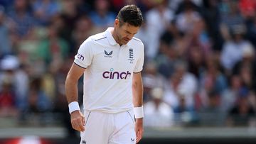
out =
[[(71, 124), (81, 132), (80, 144), (130, 144), (142, 139), (144, 45), (134, 38), (142, 23), (137, 6), (124, 6), (114, 28), (80, 45), (65, 82)], [(78, 105), (82, 74), (83, 114)]]

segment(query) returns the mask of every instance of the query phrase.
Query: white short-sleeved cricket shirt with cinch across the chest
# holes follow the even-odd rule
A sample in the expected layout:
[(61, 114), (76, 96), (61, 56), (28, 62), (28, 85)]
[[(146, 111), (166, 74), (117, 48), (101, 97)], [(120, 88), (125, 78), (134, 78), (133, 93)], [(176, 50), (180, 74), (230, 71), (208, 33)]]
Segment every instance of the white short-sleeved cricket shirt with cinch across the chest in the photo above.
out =
[(87, 38), (75, 55), (75, 64), (86, 68), (83, 105), (88, 111), (118, 113), (132, 109), (132, 76), (142, 71), (144, 45), (132, 38), (120, 46), (110, 30)]

